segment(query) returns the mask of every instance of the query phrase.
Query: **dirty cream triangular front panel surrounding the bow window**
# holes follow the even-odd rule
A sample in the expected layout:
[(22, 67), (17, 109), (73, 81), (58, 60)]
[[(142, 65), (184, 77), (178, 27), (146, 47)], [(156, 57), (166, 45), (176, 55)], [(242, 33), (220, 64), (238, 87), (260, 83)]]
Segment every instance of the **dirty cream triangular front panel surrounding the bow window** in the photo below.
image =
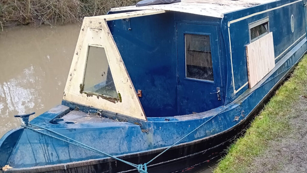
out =
[[(84, 18), (63, 99), (146, 120), (145, 113), (126, 71), (122, 57), (104, 18), (103, 16)], [(95, 95), (87, 96), (84, 93), (80, 93), (88, 45), (97, 45), (105, 48), (114, 85), (117, 92), (121, 94), (122, 102), (113, 103), (106, 99), (98, 98)]]

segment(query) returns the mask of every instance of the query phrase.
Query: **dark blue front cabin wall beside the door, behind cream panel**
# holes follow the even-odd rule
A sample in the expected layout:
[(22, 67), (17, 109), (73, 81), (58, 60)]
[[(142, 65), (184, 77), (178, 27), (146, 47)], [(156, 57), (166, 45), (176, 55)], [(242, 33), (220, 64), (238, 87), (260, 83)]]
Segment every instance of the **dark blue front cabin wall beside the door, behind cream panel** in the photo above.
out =
[[(167, 12), (130, 18), (129, 21), (121, 19), (108, 22), (134, 88), (136, 91), (142, 90), (142, 97), (139, 99), (146, 116), (181, 115), (178, 109), (177, 88), (177, 22), (214, 24), (219, 28), (220, 20), (194, 14)], [(218, 31), (220, 32), (220, 29)], [(220, 49), (221, 59), (224, 58), (222, 51), (224, 49)], [(221, 76), (225, 81), (226, 71), (222, 66), (223, 63)], [(221, 92), (225, 90), (221, 88)], [(206, 110), (208, 109), (204, 108), (203, 111)]]

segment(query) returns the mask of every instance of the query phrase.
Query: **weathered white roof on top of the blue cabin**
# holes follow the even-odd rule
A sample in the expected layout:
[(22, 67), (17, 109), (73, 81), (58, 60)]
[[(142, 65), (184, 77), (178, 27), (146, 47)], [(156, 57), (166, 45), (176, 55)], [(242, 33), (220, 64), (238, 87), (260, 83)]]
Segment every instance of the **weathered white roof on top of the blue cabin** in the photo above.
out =
[(226, 13), (274, 1), (277, 0), (181, 0), (172, 4), (118, 7), (111, 11), (165, 10), (223, 18)]

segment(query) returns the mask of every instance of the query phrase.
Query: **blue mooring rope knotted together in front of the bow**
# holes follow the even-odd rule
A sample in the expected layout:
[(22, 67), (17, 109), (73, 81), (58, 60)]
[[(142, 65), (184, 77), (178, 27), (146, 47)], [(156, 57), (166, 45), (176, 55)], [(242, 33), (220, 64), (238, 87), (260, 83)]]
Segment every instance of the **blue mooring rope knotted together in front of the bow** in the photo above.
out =
[(81, 147), (81, 148), (84, 148), (84, 149), (86, 149), (86, 150), (93, 151), (93, 152), (95, 152), (95, 153), (98, 153), (98, 154), (101, 154), (101, 155), (105, 155), (105, 156), (111, 157), (112, 159), (118, 160), (118, 161), (120, 161), (120, 162), (126, 163), (126, 164), (128, 164), (128, 165), (130, 165), (130, 166), (136, 168), (136, 169), (138, 170), (139, 173), (148, 173), (148, 172), (147, 172), (147, 165), (148, 165), (150, 162), (152, 162), (152, 161), (155, 160), (157, 157), (159, 157), (160, 155), (162, 155), (163, 153), (165, 153), (166, 151), (168, 151), (170, 148), (172, 148), (173, 146), (175, 146), (176, 144), (178, 144), (181, 140), (185, 139), (185, 138), (186, 138), (187, 136), (189, 136), (191, 133), (195, 132), (197, 129), (199, 129), (201, 126), (203, 126), (204, 124), (206, 124), (208, 121), (212, 120), (212, 119), (213, 119), (214, 117), (216, 117), (216, 116), (217, 116), (217, 114), (214, 115), (214, 116), (212, 116), (211, 118), (209, 118), (209, 119), (208, 119), (207, 121), (205, 121), (203, 124), (200, 124), (200, 126), (198, 126), (198, 127), (195, 128), (194, 130), (192, 130), (191, 132), (189, 132), (187, 135), (185, 135), (184, 137), (182, 137), (180, 140), (178, 140), (177, 142), (175, 142), (173, 145), (171, 145), (171, 146), (169, 146), (168, 148), (166, 148), (164, 151), (162, 151), (162, 152), (161, 152), (160, 154), (158, 154), (156, 157), (154, 157), (153, 159), (151, 159), (149, 162), (144, 163), (144, 164), (138, 164), (138, 165), (137, 165), (137, 164), (134, 164), (134, 163), (131, 163), (131, 162), (127, 162), (127, 161), (122, 160), (122, 159), (119, 159), (119, 158), (114, 157), (114, 156), (112, 156), (112, 155), (109, 155), (109, 154), (107, 154), (107, 153), (105, 153), (105, 152), (103, 152), (103, 151), (97, 150), (97, 149), (95, 149), (95, 148), (93, 148), (93, 147), (90, 147), (90, 146), (88, 146), (88, 145), (86, 145), (86, 144), (80, 143), (80, 142), (78, 142), (78, 141), (76, 141), (76, 140), (73, 140), (73, 139), (67, 137), (67, 136), (64, 136), (64, 135), (62, 135), (62, 134), (60, 134), (60, 133), (58, 133), (58, 132), (55, 132), (55, 131), (53, 131), (53, 130), (50, 130), (50, 129), (48, 129), (48, 128), (45, 128), (45, 127), (42, 127), (42, 126), (39, 126), (39, 125), (36, 125), (36, 124), (30, 123), (30, 125), (32, 125), (32, 126), (35, 126), (35, 127), (37, 127), (37, 128), (41, 128), (41, 129), (45, 129), (45, 130), (47, 130), (47, 131), (49, 131), (49, 132), (52, 132), (52, 133), (54, 133), (54, 134), (56, 134), (56, 135), (59, 135), (59, 136), (62, 136), (62, 137), (66, 138), (66, 139), (68, 139), (68, 140), (71, 140), (71, 141), (73, 141), (73, 142), (68, 141), (68, 140), (61, 139), (61, 138), (59, 138), (59, 137), (50, 135), (50, 134), (45, 133), (45, 132), (41, 132), (41, 131), (39, 131), (39, 130), (37, 130), (37, 129), (34, 129), (34, 128), (32, 128), (32, 127), (29, 127), (29, 126), (21, 125), (21, 127), (28, 128), (28, 129), (30, 129), (30, 130), (33, 130), (34, 132), (37, 132), (37, 133), (40, 133), (40, 134), (42, 134), (42, 135), (46, 135), (46, 136), (55, 138), (55, 139), (57, 139), (57, 140), (61, 140), (61, 141), (66, 142), (66, 143), (68, 143), (68, 144), (76, 145), (76, 146)]

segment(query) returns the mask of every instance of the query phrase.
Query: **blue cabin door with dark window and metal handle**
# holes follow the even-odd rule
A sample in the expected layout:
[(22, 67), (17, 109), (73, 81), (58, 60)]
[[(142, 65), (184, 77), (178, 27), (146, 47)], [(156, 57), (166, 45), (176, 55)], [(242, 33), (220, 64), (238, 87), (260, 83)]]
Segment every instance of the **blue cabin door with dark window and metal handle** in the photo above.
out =
[(216, 25), (177, 23), (180, 115), (223, 104), (219, 48)]

